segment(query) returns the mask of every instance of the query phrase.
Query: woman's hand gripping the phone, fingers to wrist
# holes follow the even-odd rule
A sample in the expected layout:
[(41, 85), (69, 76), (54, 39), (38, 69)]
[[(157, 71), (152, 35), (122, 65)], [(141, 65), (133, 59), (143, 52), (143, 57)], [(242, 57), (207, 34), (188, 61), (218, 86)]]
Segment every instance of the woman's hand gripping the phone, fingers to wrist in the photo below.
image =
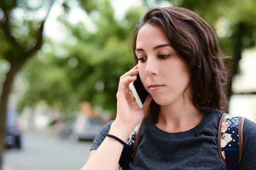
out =
[(125, 126), (135, 127), (140, 123), (143, 120), (152, 100), (151, 95), (148, 94), (143, 108), (140, 109), (134, 101), (132, 94), (129, 92), (129, 84), (137, 79), (137, 77), (134, 76), (138, 73), (138, 65), (136, 65), (130, 71), (122, 75), (119, 81), (119, 87), (116, 94), (117, 113), (115, 122), (121, 123)]

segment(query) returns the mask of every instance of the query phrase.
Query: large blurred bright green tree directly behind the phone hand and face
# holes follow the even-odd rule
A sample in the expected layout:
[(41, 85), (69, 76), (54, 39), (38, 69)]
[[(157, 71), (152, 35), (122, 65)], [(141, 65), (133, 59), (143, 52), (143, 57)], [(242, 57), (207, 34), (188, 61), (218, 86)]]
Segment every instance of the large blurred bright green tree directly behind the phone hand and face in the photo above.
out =
[[(133, 60), (129, 39), (142, 13), (139, 8), (131, 8), (118, 21), (109, 1), (95, 2), (96, 5), (90, 2), (92, 9), (84, 3), (81, 5), (96, 31), (88, 30), (84, 23), (71, 24), (68, 12), (59, 17), (71, 35), (61, 44), (49, 41), (52, 52), (27, 63), (24, 71), (29, 72), (30, 88), (21, 98), (20, 109), (45, 100), (51, 106), (61, 106), (61, 111), (68, 114), (79, 109), (79, 102), (88, 101), (115, 113), (119, 78), (129, 70)], [(70, 8), (68, 5), (64, 8)], [(98, 19), (93, 20), (95, 16)], [(52, 75), (44, 76), (46, 73)]]

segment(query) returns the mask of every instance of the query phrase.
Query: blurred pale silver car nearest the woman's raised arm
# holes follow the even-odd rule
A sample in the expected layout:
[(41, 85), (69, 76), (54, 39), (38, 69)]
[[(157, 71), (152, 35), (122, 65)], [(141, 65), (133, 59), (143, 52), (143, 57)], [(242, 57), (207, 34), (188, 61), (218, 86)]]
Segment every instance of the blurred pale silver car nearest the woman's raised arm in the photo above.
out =
[(87, 117), (80, 114), (76, 117), (70, 139), (93, 140), (103, 127), (103, 122), (99, 118)]

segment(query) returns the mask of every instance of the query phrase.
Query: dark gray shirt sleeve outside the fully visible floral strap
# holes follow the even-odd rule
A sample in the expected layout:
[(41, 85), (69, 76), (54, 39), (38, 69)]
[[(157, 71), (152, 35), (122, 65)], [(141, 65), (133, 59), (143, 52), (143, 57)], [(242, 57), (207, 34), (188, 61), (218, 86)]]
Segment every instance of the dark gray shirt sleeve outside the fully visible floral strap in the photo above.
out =
[(239, 170), (256, 170), (256, 123), (244, 120), (243, 150)]

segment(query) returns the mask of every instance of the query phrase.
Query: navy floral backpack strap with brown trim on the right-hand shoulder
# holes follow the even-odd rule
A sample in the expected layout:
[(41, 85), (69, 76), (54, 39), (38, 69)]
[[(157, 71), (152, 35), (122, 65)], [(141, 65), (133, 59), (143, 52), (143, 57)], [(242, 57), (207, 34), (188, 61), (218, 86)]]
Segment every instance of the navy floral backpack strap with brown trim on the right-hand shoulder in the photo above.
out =
[(218, 155), (227, 170), (237, 170), (243, 147), (245, 117), (223, 113), (218, 123)]

